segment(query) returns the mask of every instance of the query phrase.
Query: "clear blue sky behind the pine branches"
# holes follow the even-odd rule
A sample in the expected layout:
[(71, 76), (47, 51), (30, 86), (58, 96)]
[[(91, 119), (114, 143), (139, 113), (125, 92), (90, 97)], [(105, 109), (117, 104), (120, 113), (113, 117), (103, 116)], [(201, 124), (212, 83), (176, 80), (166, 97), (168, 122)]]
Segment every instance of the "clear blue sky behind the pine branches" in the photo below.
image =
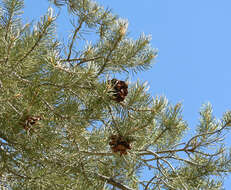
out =
[[(218, 118), (231, 108), (230, 0), (98, 2), (128, 19), (132, 37), (142, 32), (152, 35), (152, 46), (159, 49), (159, 55), (153, 68), (138, 77), (149, 81), (153, 96), (181, 101), (191, 129), (198, 123), (203, 103), (211, 102)], [(25, 0), (25, 18), (37, 19), (48, 6), (47, 0)], [(64, 17), (58, 20), (60, 36), (70, 31), (67, 23)], [(226, 179), (226, 189), (230, 185), (231, 178)]]

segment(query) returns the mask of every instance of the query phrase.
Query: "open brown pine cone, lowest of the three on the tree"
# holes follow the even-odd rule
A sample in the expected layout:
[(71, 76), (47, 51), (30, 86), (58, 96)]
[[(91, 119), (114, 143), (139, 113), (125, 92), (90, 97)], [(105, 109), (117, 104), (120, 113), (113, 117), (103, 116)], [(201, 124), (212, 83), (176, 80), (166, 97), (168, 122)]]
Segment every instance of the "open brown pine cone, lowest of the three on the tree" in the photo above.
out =
[(120, 152), (120, 156), (122, 154), (127, 154), (127, 150), (131, 149), (130, 141), (119, 135), (110, 136), (109, 145), (112, 149), (112, 152)]

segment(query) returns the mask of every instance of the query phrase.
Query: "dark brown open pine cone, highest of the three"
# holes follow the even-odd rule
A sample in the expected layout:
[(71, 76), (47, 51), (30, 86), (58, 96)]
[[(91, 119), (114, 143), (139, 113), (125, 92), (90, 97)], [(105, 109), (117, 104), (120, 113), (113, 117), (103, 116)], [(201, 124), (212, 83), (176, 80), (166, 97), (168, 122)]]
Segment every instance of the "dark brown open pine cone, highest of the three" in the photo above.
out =
[(113, 90), (113, 100), (117, 102), (122, 102), (128, 95), (128, 85), (125, 81), (112, 79), (109, 81)]

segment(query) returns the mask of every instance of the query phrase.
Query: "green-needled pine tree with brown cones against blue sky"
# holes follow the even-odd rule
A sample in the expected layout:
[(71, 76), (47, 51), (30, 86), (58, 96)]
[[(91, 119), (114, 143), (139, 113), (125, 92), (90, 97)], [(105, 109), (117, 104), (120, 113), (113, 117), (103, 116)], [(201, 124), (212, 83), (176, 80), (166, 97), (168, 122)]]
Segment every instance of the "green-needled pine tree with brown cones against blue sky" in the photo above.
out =
[(23, 24), (23, 1), (1, 2), (1, 189), (222, 189), (231, 112), (217, 120), (203, 105), (188, 136), (180, 103), (125, 80), (151, 67), (149, 36), (130, 39), (127, 21), (91, 0), (52, 3), (72, 18), (66, 43), (54, 9)]

